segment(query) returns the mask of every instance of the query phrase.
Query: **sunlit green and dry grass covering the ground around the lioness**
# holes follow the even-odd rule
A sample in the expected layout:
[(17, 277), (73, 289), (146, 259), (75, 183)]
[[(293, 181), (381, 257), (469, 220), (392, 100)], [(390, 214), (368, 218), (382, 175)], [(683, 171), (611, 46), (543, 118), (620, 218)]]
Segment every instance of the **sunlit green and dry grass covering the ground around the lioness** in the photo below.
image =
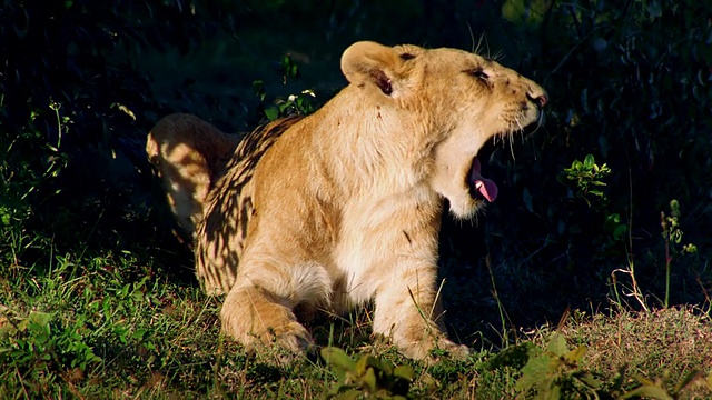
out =
[[(338, 370), (318, 357), (285, 363), (278, 353), (246, 354), (220, 334), (219, 299), (172, 279), (149, 256), (65, 254), (44, 264), (0, 266), (0, 398), (312, 399), (326, 398), (339, 382), (354, 383), (362, 393), (362, 378), (342, 381)], [(705, 381), (712, 371), (712, 321), (709, 311), (692, 307), (652, 312), (619, 308), (605, 316), (573, 311), (556, 328), (537, 327), (502, 343), (507, 350), (479, 344), (467, 361), (429, 366), (369, 338), (368, 320), (368, 311), (360, 310), (310, 328), (320, 344), (333, 342), (354, 359), (373, 356), (409, 367), (412, 398), (544, 393), (545, 383), (536, 379), (528, 394), (517, 381), (531, 373), (527, 359), (542, 353), (554, 332), (563, 334), (567, 348), (587, 349), (557, 370), (561, 382), (585, 373), (607, 393), (622, 396), (646, 383), (673, 393), (686, 376), (700, 371), (679, 398), (712, 396)], [(517, 349), (525, 351), (508, 356)]]

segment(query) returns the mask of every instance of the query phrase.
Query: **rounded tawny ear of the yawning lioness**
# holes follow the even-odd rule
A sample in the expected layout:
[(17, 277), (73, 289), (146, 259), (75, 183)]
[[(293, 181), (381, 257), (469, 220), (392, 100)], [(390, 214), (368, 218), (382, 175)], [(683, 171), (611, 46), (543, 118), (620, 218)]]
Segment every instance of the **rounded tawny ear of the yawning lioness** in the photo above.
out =
[(385, 94), (393, 92), (404, 59), (389, 47), (372, 41), (356, 42), (342, 56), (342, 72), (350, 83), (373, 83)]

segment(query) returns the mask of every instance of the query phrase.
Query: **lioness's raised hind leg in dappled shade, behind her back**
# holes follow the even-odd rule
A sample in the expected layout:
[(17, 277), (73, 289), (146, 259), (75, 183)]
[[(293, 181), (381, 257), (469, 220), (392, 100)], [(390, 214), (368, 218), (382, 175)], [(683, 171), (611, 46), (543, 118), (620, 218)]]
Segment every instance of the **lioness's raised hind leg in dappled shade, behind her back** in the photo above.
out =
[(202, 219), (205, 201), (239, 142), (191, 114), (161, 119), (148, 133), (146, 152), (166, 187), (180, 227), (191, 237)]

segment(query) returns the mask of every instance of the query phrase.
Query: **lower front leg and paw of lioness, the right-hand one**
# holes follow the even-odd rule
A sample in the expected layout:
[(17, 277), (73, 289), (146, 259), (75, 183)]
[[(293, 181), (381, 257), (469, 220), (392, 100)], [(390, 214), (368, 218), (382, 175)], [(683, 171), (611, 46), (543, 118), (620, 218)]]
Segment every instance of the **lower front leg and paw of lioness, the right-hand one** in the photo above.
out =
[(451, 357), (464, 359), (466, 346), (447, 339), (442, 323), (437, 297), (435, 266), (396, 269), (376, 293), (374, 333), (389, 337), (400, 352), (413, 359), (432, 357), (433, 350), (444, 350)]

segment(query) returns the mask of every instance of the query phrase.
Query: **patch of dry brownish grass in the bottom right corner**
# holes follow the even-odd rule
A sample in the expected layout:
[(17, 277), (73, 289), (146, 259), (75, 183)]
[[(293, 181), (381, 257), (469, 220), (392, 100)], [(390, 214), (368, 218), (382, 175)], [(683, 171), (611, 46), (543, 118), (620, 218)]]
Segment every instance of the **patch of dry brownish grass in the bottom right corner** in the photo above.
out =
[[(561, 332), (575, 346), (589, 350), (582, 367), (610, 380), (626, 366), (625, 377), (650, 380), (670, 377), (676, 383), (692, 371), (712, 372), (712, 318), (698, 308), (680, 307), (651, 312), (619, 310), (564, 324)], [(685, 396), (710, 398), (702, 382)]]

